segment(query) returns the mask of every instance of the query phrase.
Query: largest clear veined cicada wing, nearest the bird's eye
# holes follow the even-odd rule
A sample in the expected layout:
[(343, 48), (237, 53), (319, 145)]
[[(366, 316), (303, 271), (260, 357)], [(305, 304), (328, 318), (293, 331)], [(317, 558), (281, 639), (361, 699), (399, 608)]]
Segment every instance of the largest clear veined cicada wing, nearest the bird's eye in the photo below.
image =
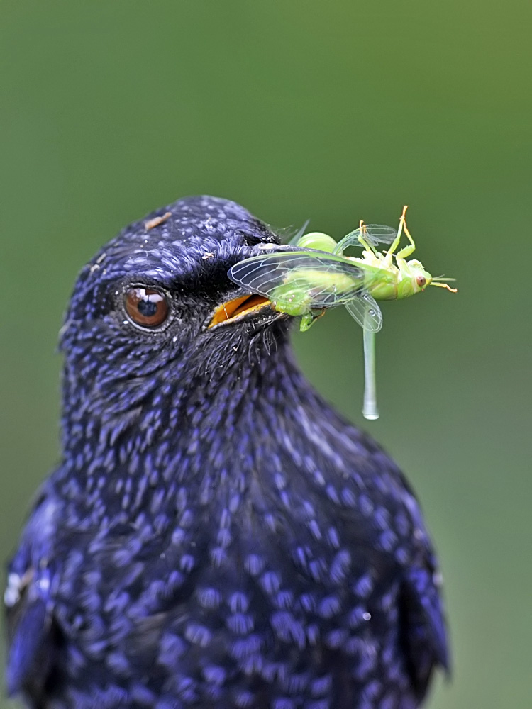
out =
[(228, 277), (252, 293), (279, 302), (299, 291), (309, 308), (333, 308), (358, 298), (378, 277), (342, 257), (313, 249), (284, 250), (245, 259)]

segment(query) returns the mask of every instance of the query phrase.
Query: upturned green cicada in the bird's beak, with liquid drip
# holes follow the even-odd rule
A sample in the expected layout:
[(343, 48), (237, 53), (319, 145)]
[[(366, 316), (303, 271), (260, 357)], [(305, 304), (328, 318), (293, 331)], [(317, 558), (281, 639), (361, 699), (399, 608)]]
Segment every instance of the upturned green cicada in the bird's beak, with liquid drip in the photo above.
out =
[[(397, 251), (403, 234), (409, 244)], [(388, 250), (379, 252), (379, 244), (389, 245)], [(350, 246), (362, 247), (362, 257), (344, 256)], [(280, 313), (301, 316), (301, 330), (308, 330), (327, 308), (345, 306), (363, 328), (362, 413), (365, 418), (375, 419), (379, 416), (375, 396), (375, 333), (382, 328), (377, 301), (409, 298), (427, 286), (455, 292), (442, 282), (445, 279), (432, 277), (421, 262), (406, 260), (415, 249), (406, 227), (405, 206), (397, 230), (361, 221), (358, 229), (338, 243), (327, 234), (306, 234), (295, 245), (240, 261), (228, 275), (246, 290), (268, 298)]]

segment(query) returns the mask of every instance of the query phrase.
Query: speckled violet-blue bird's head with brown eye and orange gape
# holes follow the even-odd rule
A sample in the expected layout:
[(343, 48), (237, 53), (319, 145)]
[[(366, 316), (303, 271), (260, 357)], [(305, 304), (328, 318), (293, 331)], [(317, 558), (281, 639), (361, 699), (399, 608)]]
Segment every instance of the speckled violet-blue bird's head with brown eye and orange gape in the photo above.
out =
[(118, 234), (79, 274), (62, 328), (71, 418), (133, 411), (257, 364), (286, 339), (287, 316), (227, 272), (278, 243), (243, 207), (206, 196)]

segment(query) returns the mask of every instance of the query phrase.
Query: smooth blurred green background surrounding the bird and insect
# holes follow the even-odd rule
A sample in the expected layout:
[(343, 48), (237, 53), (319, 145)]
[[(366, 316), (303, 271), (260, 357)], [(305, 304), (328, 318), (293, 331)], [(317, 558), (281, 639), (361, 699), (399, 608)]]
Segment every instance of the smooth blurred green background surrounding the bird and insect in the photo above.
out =
[(454, 657), (428, 705), (530, 706), (531, 21), (513, 0), (0, 4), (2, 559), (57, 458), (62, 311), (116, 231), (187, 194), (336, 238), (408, 203), (460, 292), (384, 304), (382, 418), (347, 313), (294, 345), (421, 498)]

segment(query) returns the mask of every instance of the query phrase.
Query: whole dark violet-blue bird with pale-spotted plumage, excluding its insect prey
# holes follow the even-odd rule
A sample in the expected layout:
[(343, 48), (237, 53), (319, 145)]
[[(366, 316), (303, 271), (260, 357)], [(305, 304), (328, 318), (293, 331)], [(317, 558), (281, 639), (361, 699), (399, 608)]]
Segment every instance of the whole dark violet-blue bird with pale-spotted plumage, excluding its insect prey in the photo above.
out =
[(61, 454), (7, 569), (8, 693), (32, 709), (414, 709), (449, 654), (397, 464), (228, 278), (279, 248), (195, 196), (121, 231), (60, 330)]

